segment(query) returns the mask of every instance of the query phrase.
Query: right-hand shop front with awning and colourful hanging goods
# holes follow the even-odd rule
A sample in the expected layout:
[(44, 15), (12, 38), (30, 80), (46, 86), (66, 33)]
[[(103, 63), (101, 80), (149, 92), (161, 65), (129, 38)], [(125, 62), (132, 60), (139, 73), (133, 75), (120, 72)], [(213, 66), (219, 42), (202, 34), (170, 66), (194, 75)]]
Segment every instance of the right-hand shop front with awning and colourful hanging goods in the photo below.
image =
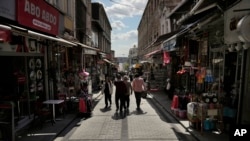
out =
[[(208, 23), (207, 19), (211, 21)], [(199, 27), (205, 22), (206, 27)], [(178, 117), (187, 118), (190, 125), (199, 125), (193, 127), (201, 131), (224, 130), (221, 125), (226, 46), (220, 33), (223, 20), (217, 14), (208, 15), (182, 36), (176, 52), (178, 70), (173, 71), (173, 76), (178, 89), (171, 108)], [(218, 126), (210, 127), (207, 123)]]

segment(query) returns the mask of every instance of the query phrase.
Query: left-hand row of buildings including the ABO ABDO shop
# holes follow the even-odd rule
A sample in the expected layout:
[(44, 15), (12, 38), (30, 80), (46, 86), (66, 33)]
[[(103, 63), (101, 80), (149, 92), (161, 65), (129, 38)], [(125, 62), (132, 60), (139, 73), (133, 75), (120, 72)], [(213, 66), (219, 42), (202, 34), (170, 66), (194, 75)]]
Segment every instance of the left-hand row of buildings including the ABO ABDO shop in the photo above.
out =
[(21, 123), (32, 119), (36, 102), (77, 96), (82, 70), (90, 74), (92, 93), (99, 83), (98, 62), (111, 63), (114, 52), (104, 8), (102, 30), (92, 30), (91, 0), (2, 0), (0, 5), (0, 104), (13, 105), (7, 128), (13, 139), (25, 126)]

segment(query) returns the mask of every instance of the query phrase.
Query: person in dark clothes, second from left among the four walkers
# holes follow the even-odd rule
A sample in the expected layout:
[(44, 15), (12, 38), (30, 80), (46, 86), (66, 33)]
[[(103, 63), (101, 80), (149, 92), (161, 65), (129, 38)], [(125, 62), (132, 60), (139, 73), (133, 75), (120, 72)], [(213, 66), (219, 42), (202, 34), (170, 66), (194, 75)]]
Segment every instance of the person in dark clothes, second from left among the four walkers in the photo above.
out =
[(116, 87), (115, 90), (116, 111), (118, 111), (120, 108), (120, 112), (122, 112), (123, 109), (125, 109), (124, 96), (125, 93), (127, 92), (127, 89), (126, 89), (126, 84), (122, 81), (120, 74), (117, 75), (117, 80), (114, 82), (114, 85)]

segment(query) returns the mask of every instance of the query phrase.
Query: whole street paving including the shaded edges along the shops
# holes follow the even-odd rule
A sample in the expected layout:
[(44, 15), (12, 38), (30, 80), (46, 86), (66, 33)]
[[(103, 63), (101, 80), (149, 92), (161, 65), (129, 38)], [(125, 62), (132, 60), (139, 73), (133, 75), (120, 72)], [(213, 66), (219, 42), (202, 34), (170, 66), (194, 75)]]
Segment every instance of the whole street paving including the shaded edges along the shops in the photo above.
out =
[[(93, 99), (100, 100), (91, 118), (81, 120), (72, 127), (70, 133), (60, 135), (74, 119), (76, 113), (68, 113), (55, 125), (46, 124), (42, 129), (27, 129), (18, 134), (16, 141), (64, 141), (64, 140), (190, 140), (228, 141), (227, 134), (204, 132), (189, 127), (187, 119), (175, 117), (170, 111), (171, 101), (163, 91), (154, 91), (147, 99), (142, 99), (142, 111), (136, 111), (134, 94), (130, 96), (131, 106), (128, 114), (116, 113), (114, 95), (113, 105), (105, 109), (103, 95), (95, 93)], [(157, 105), (157, 107), (155, 106)], [(164, 116), (159, 116), (160, 109)], [(166, 119), (167, 117), (167, 119)], [(171, 119), (171, 120), (169, 120)], [(184, 127), (184, 128), (183, 128)], [(74, 128), (74, 129), (73, 129)], [(187, 132), (188, 131), (188, 132)], [(67, 134), (67, 135), (66, 135)], [(184, 139), (183, 139), (184, 138)]]

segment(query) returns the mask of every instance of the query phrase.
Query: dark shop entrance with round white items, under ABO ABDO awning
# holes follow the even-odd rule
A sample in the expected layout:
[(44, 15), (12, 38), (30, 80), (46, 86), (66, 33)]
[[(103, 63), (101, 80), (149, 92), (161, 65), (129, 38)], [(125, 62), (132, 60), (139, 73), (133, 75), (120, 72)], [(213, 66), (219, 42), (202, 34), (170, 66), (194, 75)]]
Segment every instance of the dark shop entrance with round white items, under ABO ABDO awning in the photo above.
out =
[(37, 98), (45, 98), (43, 57), (0, 56), (0, 65), (0, 99), (14, 104), (18, 125), (22, 119), (31, 118)]

